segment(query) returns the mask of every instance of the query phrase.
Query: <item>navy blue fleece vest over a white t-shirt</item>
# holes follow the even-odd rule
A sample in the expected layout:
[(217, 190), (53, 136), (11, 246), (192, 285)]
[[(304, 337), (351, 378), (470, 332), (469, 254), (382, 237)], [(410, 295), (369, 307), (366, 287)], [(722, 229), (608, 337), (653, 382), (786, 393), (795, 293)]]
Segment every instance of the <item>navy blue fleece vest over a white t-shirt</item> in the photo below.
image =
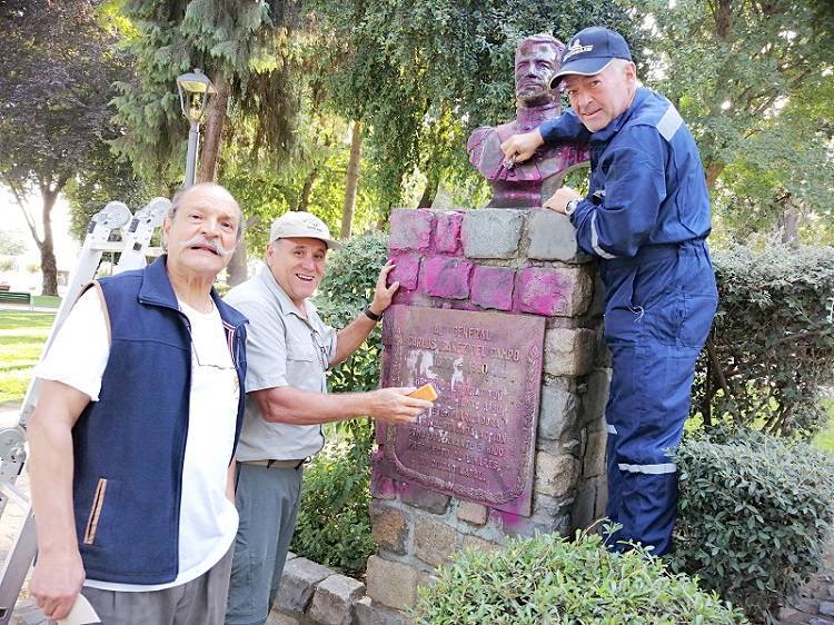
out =
[[(179, 572), (191, 337), (165, 264), (162, 256), (145, 269), (100, 280), (110, 356), (99, 400), (88, 404), (72, 430), (76, 530), (90, 579), (163, 584)], [(240, 383), (237, 445), (246, 318), (214, 289), (211, 298)]]

